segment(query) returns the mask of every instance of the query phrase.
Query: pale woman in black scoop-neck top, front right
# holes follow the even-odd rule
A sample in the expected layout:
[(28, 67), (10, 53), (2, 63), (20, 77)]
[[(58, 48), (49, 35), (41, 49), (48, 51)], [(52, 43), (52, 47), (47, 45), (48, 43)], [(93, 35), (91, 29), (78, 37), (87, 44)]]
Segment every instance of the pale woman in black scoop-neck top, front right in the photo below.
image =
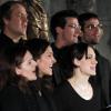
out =
[(60, 84), (53, 94), (60, 111), (99, 111), (101, 109), (101, 90), (99, 83), (90, 77), (95, 73), (97, 60), (93, 48), (87, 43), (65, 47), (61, 53), (61, 65), (69, 73), (67, 81)]

